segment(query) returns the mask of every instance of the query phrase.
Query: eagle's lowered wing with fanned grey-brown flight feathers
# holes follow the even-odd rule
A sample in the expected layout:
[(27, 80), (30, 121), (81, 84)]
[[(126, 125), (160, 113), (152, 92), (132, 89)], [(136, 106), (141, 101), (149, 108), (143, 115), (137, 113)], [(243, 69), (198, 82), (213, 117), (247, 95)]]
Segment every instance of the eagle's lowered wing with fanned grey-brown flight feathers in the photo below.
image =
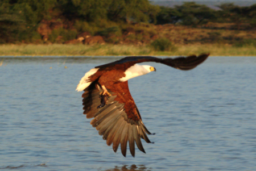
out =
[(135, 143), (140, 151), (144, 152), (141, 138), (147, 143), (151, 143), (147, 134), (151, 134), (144, 126), (141, 115), (131, 97), (128, 82), (118, 82), (113, 87), (107, 87), (108, 92), (112, 95), (108, 103), (97, 109), (101, 104), (99, 94), (102, 91), (97, 81), (94, 81), (87, 87), (82, 94), (84, 98), (84, 114), (87, 118), (94, 118), (90, 122), (93, 127), (96, 127), (98, 134), (102, 135), (108, 145), (113, 143), (114, 152), (117, 151), (121, 144), (123, 156), (126, 156), (127, 142), (131, 155), (135, 156)]

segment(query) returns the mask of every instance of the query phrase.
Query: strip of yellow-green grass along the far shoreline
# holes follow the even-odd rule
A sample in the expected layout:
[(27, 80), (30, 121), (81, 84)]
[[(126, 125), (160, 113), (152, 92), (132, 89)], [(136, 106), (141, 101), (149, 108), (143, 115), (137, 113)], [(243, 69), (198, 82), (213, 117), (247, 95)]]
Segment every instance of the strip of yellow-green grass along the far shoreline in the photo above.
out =
[(0, 45), (0, 56), (40, 56), (40, 55), (68, 55), (68, 56), (176, 56), (210, 53), (211, 56), (256, 56), (253, 45), (234, 47), (228, 44), (188, 44), (176, 45), (174, 52), (154, 51), (149, 45), (83, 45), (83, 44), (3, 44)]

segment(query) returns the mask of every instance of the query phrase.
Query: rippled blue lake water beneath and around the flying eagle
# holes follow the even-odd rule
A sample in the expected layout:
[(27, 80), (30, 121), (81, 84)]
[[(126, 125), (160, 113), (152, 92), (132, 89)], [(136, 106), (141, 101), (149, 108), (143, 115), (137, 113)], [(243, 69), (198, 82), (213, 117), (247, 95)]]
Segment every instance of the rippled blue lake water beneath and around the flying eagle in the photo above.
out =
[(155, 133), (135, 158), (106, 145), (75, 91), (85, 72), (117, 59), (0, 57), (0, 169), (256, 169), (256, 57), (209, 57), (189, 71), (150, 63), (157, 72), (129, 80)]

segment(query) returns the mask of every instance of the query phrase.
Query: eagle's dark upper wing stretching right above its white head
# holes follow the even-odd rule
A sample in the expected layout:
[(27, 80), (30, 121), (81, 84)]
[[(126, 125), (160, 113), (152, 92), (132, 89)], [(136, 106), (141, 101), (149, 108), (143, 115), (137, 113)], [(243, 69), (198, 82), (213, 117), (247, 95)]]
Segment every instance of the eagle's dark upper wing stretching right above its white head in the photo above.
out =
[(171, 58), (160, 59), (152, 56), (128, 56), (121, 60), (111, 62), (109, 64), (96, 66), (95, 68), (107, 68), (109, 66), (113, 66), (113, 65), (118, 66), (122, 64), (121, 65), (122, 68), (125, 66), (125, 70), (126, 70), (127, 68), (130, 68), (130, 66), (133, 66), (134, 64), (137, 64), (137, 63), (158, 62), (161, 64), (171, 66), (176, 69), (189, 70), (201, 64), (203, 61), (207, 59), (208, 56), (209, 54), (202, 54), (199, 56), (196, 56), (196, 55), (187, 56), (187, 57), (181, 56), (181, 57), (176, 57), (175, 59), (171, 59)]

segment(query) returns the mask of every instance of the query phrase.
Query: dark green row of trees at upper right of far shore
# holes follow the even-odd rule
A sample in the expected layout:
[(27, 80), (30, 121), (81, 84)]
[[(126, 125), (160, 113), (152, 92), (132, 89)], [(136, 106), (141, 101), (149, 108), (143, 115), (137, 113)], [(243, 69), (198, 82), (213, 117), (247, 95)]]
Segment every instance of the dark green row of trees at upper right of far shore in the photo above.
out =
[(233, 3), (224, 3), (221, 10), (213, 10), (195, 2), (184, 2), (174, 8), (160, 7), (156, 15), (158, 24), (180, 23), (185, 26), (199, 26), (208, 22), (236, 23), (233, 29), (253, 29), (256, 23), (256, 4), (248, 7), (236, 6)]

